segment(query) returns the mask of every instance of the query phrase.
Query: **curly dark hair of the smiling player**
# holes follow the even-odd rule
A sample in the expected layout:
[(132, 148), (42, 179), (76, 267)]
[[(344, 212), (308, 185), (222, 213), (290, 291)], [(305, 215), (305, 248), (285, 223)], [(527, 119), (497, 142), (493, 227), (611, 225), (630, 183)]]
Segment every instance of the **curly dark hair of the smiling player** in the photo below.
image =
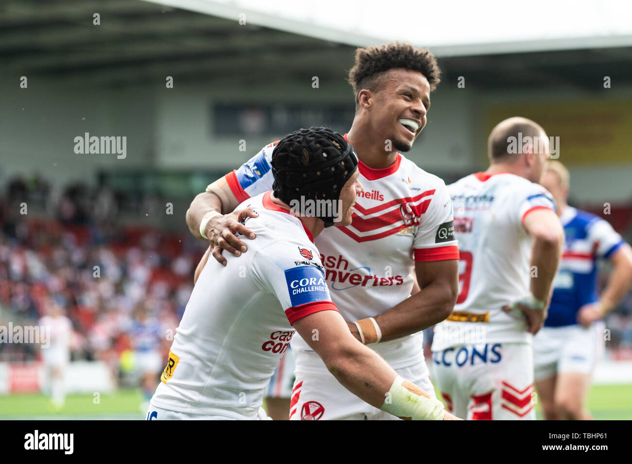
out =
[(382, 45), (381, 47), (367, 47), (356, 49), (355, 64), (349, 70), (347, 81), (353, 87), (356, 105), (358, 93), (367, 88), (375, 92), (386, 81), (386, 71), (393, 68), (411, 69), (422, 73), (430, 84), (430, 90), (435, 90), (441, 81), (441, 69), (437, 59), (428, 50), (416, 49), (410, 44)]

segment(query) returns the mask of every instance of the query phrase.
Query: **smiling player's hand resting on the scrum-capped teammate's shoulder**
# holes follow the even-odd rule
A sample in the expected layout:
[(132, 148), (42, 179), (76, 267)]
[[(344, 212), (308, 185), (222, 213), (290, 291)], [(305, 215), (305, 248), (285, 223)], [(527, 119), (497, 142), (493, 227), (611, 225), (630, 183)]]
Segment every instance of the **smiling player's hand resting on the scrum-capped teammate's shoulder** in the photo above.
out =
[(248, 251), (245, 243), (238, 239), (235, 234), (241, 234), (248, 239), (255, 238), (256, 235), (253, 234), (252, 230), (243, 225), (243, 221), (248, 217), (256, 218), (258, 215), (252, 208), (245, 208), (213, 217), (207, 223), (204, 234), (209, 237), (213, 258), (222, 266), (226, 266), (226, 258), (222, 256), (222, 250), (227, 250), (234, 256), (240, 256), (241, 253)]

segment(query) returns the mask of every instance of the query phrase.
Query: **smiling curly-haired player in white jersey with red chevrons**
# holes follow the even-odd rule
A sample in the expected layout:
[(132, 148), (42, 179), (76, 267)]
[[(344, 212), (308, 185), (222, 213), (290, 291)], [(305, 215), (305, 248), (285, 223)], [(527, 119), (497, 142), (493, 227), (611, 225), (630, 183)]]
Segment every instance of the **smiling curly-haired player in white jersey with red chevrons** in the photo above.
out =
[[(459, 253), (446, 185), (401, 152), (411, 149), (425, 126), (440, 74), (432, 53), (409, 44), (357, 49), (349, 71), (356, 112), (345, 138), (360, 158), (365, 191), (351, 225), (331, 227), (316, 239), (331, 298), (349, 331), (433, 396), (420, 331), (451, 313)], [(250, 222), (240, 223), (252, 211), (231, 211), (272, 188), (273, 150), (274, 143), (265, 146), (210, 184), (187, 211), (191, 233), (209, 237), (212, 255), (221, 263), (226, 262), (222, 248), (239, 255), (246, 251), (240, 239), (255, 238), (246, 227)], [(247, 241), (248, 246), (257, 240)], [(413, 271), (421, 291), (410, 296)], [(289, 419), (396, 419), (345, 390), (309, 340), (294, 336), (292, 350), (296, 380)]]

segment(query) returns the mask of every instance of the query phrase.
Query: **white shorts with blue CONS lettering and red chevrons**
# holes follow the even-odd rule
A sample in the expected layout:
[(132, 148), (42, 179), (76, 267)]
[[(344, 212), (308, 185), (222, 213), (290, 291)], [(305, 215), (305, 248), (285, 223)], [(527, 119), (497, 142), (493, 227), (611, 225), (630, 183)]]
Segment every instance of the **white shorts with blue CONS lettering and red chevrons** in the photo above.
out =
[(530, 343), (458, 345), (432, 353), (446, 409), (468, 420), (535, 420)]

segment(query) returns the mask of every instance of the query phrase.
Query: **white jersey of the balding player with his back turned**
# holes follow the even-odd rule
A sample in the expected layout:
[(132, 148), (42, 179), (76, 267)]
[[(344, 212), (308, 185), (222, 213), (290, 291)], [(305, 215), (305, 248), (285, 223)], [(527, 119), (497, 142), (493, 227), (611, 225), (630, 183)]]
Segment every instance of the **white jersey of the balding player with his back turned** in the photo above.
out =
[(514, 174), (477, 172), (449, 185), (459, 241), (459, 295), (435, 326), (432, 350), (463, 343), (530, 342), (520, 311), (502, 307), (530, 288), (531, 238), (523, 221), (539, 208), (555, 211), (550, 193)]

